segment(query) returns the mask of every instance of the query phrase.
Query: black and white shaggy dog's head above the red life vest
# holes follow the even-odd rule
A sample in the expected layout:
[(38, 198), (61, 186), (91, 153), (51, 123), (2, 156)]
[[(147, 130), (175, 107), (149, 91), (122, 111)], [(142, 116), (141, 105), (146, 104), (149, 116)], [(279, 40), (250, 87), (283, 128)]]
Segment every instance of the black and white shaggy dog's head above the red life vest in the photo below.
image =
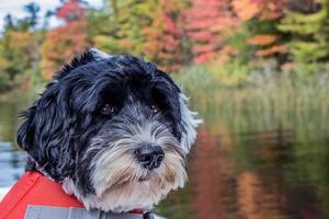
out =
[(87, 208), (149, 208), (186, 181), (198, 119), (167, 73), (89, 49), (24, 112), (18, 143)]

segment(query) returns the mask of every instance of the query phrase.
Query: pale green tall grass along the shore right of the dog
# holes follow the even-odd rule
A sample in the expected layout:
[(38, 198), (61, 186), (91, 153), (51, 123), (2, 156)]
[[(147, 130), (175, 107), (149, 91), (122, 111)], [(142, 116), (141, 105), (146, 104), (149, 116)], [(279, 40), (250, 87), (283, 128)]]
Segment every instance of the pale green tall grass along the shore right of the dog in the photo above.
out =
[[(287, 72), (251, 72), (243, 84), (227, 85), (205, 67), (184, 69), (174, 76), (207, 125), (222, 131), (271, 129), (329, 130), (329, 80), (324, 76), (299, 78)], [(300, 134), (300, 131), (296, 131)], [(308, 136), (311, 137), (311, 136)]]

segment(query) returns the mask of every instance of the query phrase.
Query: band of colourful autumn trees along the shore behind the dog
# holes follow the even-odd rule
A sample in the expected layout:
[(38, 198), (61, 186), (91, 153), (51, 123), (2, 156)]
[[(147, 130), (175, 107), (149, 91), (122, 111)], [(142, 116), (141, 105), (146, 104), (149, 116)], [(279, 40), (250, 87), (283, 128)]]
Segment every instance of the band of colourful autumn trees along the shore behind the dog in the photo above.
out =
[[(25, 18), (5, 16), (1, 89), (49, 80), (90, 46), (143, 56), (171, 72), (271, 62), (281, 71), (314, 73), (329, 58), (329, 0), (104, 0), (100, 9), (82, 0), (60, 3), (41, 15), (31, 2)], [(61, 24), (49, 27), (52, 16)]]

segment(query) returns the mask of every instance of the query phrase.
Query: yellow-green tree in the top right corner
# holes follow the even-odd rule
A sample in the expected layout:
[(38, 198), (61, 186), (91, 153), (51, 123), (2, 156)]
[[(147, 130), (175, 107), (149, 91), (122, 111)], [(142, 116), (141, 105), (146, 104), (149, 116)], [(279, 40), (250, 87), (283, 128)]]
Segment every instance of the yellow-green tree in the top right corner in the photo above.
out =
[(288, 47), (303, 69), (314, 71), (329, 57), (329, 1), (307, 0), (308, 8), (292, 4), (277, 28), (291, 34)]

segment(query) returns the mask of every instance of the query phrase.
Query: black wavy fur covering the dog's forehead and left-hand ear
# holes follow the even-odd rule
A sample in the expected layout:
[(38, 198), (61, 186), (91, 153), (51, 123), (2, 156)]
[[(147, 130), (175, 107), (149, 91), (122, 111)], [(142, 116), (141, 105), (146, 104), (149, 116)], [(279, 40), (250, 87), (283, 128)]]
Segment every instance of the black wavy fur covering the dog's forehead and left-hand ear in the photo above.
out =
[[(122, 108), (131, 102), (139, 103), (147, 113), (157, 104), (157, 118), (180, 140), (180, 92), (169, 76), (150, 62), (128, 55), (98, 60), (87, 51), (57, 72), (23, 113), (18, 143), (29, 153), (27, 170), (42, 171), (57, 182), (69, 176), (83, 185), (84, 194), (92, 193), (91, 158), (81, 159), (90, 140), (124, 116)], [(102, 114), (106, 103), (115, 113)]]

